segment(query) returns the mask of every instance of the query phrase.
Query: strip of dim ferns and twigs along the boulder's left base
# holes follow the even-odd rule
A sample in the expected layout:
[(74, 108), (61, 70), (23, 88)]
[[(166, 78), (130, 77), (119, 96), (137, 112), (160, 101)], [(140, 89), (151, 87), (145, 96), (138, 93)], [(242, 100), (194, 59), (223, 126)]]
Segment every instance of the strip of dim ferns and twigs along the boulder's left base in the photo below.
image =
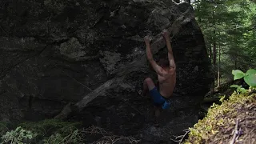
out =
[[(80, 127), (80, 129), (78, 128)], [(0, 122), (0, 144), (78, 144), (89, 143), (138, 143), (133, 137), (114, 135), (98, 126), (81, 128), (80, 122), (63, 122), (57, 119), (46, 119), (40, 122), (22, 122), (13, 128), (6, 122)], [(14, 129), (14, 130), (13, 130)]]

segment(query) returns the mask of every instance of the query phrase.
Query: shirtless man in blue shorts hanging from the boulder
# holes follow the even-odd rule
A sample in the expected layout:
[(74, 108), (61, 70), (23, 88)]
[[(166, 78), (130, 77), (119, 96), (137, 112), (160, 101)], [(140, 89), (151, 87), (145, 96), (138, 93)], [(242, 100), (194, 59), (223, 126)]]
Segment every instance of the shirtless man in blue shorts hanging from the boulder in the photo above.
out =
[(155, 115), (155, 126), (158, 126), (158, 118), (160, 116), (160, 109), (168, 109), (170, 102), (167, 100), (174, 91), (176, 84), (176, 66), (174, 62), (173, 51), (170, 46), (170, 35), (167, 30), (162, 31), (162, 35), (166, 40), (166, 46), (168, 49), (168, 59), (160, 59), (157, 63), (154, 61), (153, 55), (150, 50), (150, 38), (146, 36), (144, 41), (146, 43), (146, 56), (151, 66), (158, 74), (159, 90), (155, 86), (151, 78), (146, 78), (143, 82), (142, 95), (150, 93), (150, 97), (154, 101), (154, 115)]

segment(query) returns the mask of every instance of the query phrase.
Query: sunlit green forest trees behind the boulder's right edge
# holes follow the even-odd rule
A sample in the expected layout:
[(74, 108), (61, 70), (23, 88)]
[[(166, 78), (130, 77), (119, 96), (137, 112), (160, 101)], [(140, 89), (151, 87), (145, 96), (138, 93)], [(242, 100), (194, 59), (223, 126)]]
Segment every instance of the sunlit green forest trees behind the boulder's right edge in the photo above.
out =
[[(184, 2), (184, 1), (176, 1)], [(213, 87), (233, 80), (232, 70), (256, 67), (256, 0), (186, 0), (194, 7), (214, 68)]]

